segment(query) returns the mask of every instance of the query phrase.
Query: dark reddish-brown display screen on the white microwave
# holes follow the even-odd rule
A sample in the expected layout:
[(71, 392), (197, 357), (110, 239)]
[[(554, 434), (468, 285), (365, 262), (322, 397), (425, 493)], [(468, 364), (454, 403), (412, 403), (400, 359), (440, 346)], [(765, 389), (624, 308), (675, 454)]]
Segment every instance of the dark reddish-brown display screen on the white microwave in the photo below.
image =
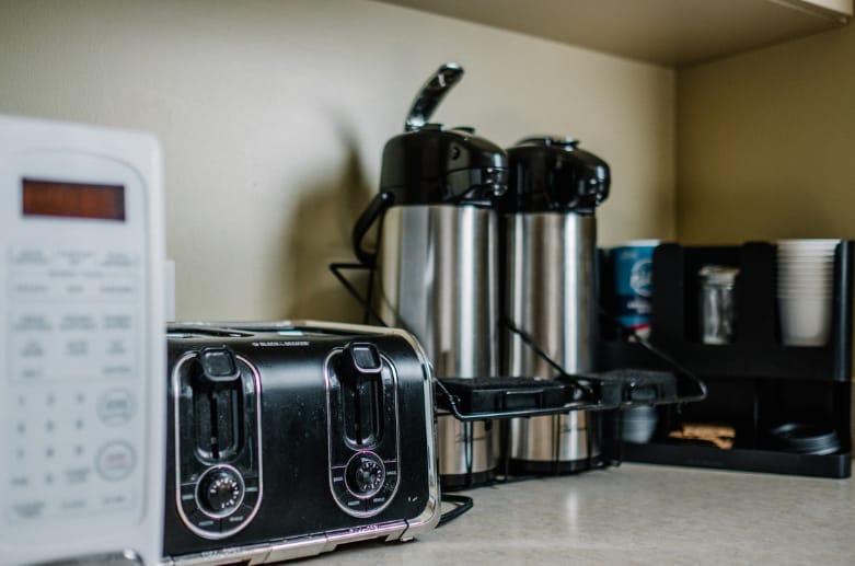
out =
[(24, 178), (24, 216), (125, 220), (125, 187)]

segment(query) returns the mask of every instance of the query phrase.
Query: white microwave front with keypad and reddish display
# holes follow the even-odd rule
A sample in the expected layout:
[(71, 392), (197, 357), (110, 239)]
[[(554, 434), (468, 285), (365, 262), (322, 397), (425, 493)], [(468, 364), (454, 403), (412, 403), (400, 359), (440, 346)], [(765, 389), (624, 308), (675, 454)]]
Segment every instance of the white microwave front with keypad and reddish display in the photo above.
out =
[[(152, 449), (162, 450), (165, 400), (160, 171), (147, 168), (158, 155), (134, 134), (0, 120), (0, 557), (9, 563), (27, 553), (155, 558), (141, 533), (157, 528), (149, 516), (162, 499), (148, 480), (152, 459), (162, 465)], [(118, 546), (90, 546), (94, 532)]]

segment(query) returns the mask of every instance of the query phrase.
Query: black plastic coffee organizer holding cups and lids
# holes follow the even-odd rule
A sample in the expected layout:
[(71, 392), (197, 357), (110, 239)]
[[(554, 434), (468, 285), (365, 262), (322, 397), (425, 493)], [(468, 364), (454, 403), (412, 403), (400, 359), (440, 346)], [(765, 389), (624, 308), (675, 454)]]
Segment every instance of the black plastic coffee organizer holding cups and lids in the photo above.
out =
[[(652, 259), (647, 342), (703, 380), (707, 397), (657, 407), (655, 431), (643, 441), (621, 438), (626, 429), (612, 427), (604, 439), (605, 451), (635, 462), (848, 477), (852, 262), (853, 242), (843, 240), (834, 252), (831, 322), (824, 345), (787, 346), (775, 297), (775, 244), (659, 245)], [(739, 269), (733, 286), (736, 332), (727, 344), (705, 344), (701, 338), (697, 274), (709, 264)], [(601, 285), (608, 289), (611, 264), (602, 261), (601, 265)], [(609, 304), (608, 293), (603, 297), (608, 313), (614, 305)], [(603, 319), (599, 368), (666, 367), (660, 357), (622, 334), (610, 317)], [(692, 428), (728, 438), (716, 443), (679, 434)]]

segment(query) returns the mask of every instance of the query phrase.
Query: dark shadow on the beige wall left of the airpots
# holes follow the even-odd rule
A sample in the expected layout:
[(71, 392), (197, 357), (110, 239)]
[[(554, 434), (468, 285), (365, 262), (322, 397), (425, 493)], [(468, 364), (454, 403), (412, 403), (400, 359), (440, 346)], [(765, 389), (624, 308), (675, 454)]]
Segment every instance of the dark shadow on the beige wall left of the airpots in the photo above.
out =
[[(355, 138), (345, 132), (347, 159), (340, 174), (330, 183), (300, 190), (293, 217), (285, 223), (284, 266), (290, 274), (291, 296), (287, 317), (362, 322), (362, 309), (330, 272), (332, 262), (356, 262), (350, 233), (374, 192), (366, 178)], [(360, 291), (367, 274), (345, 272)]]

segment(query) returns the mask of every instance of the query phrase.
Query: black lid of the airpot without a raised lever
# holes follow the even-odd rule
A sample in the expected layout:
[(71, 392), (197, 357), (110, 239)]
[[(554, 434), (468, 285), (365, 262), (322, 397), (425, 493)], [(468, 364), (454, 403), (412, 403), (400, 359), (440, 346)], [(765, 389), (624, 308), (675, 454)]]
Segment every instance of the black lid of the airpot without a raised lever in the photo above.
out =
[(505, 212), (592, 213), (609, 196), (609, 164), (573, 138), (535, 136), (508, 149)]

